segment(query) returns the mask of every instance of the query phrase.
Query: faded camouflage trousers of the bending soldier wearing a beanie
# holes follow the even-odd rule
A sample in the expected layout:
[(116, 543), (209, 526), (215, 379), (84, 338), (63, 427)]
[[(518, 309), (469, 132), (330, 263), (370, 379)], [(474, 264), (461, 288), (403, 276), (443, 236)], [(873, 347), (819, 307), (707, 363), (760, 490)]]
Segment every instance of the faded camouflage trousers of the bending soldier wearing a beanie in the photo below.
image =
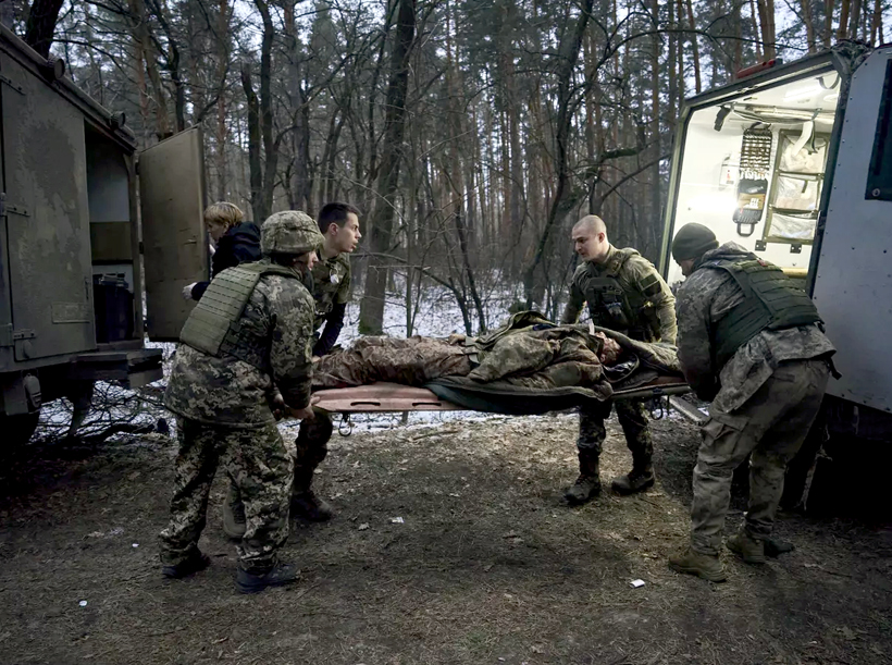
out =
[(691, 545), (718, 554), (734, 469), (749, 457), (749, 506), (744, 529), (756, 540), (771, 533), (786, 464), (818, 415), (830, 370), (823, 360), (782, 362), (733, 414), (710, 408), (694, 467)]

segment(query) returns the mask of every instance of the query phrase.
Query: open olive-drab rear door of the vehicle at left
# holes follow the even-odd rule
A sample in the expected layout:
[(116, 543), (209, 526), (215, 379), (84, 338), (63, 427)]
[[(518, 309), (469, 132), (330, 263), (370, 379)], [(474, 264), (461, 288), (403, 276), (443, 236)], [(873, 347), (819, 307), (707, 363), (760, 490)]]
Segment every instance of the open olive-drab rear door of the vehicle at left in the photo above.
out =
[(207, 280), (205, 164), (200, 127), (139, 155), (139, 206), (146, 269), (146, 328), (153, 341), (176, 341), (194, 301), (183, 287)]

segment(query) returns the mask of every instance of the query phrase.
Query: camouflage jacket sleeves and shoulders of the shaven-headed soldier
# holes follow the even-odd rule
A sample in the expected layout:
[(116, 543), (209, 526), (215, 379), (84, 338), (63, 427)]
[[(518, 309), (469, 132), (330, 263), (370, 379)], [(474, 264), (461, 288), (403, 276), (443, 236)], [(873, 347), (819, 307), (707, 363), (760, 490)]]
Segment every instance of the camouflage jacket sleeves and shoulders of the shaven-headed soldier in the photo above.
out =
[[(659, 340), (643, 341), (674, 344), (678, 327), (676, 324), (676, 298), (671, 290), (657, 272), (657, 269), (654, 268), (654, 264), (640, 254), (634, 253), (624, 261), (623, 258), (623, 253), (611, 245), (603, 263), (593, 263), (591, 268), (587, 263), (577, 267), (570, 285), (570, 299), (563, 309), (560, 322), (562, 324), (575, 323), (579, 319), (579, 313), (585, 304), (582, 284), (586, 271), (594, 268), (593, 272), (597, 276), (615, 278), (624, 293), (634, 292), (640, 296), (639, 299), (646, 300), (654, 307), (653, 313), (658, 323)], [(636, 318), (633, 321), (635, 327), (648, 328), (648, 324), (641, 320), (643, 318), (642, 312), (634, 312), (633, 316)]]

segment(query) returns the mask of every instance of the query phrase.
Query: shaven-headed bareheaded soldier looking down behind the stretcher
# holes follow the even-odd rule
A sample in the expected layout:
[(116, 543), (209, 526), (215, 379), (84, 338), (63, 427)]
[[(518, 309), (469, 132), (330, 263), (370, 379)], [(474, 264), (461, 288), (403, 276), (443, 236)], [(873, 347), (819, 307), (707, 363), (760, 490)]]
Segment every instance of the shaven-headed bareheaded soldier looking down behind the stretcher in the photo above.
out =
[[(642, 342), (676, 343), (676, 299), (647, 259), (631, 248), (617, 249), (607, 239), (604, 221), (594, 214), (573, 226), (573, 245), (582, 263), (573, 273), (570, 300), (561, 323), (575, 323), (583, 303), (589, 304), (596, 325), (622, 332)], [(604, 420), (610, 402), (581, 408), (579, 414), (580, 476), (563, 493), (570, 504), (582, 504), (600, 493), (598, 459), (607, 438)], [(654, 445), (647, 429), (644, 404), (617, 402), (617, 418), (632, 452), (632, 470), (616, 478), (611, 487), (620, 494), (642, 492), (654, 484)]]

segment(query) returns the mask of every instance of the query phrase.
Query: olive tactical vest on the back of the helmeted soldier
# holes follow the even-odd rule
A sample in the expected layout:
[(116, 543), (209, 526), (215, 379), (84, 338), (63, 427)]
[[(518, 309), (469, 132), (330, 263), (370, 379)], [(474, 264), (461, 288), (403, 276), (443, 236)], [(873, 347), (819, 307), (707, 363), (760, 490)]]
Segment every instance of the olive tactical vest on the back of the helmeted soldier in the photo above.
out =
[(179, 333), (179, 341), (216, 358), (227, 355), (269, 371), (269, 335), (251, 330), (249, 322), (241, 320), (245, 307), (264, 274), (300, 279), (293, 269), (269, 261), (224, 270), (211, 281), (193, 309)]

